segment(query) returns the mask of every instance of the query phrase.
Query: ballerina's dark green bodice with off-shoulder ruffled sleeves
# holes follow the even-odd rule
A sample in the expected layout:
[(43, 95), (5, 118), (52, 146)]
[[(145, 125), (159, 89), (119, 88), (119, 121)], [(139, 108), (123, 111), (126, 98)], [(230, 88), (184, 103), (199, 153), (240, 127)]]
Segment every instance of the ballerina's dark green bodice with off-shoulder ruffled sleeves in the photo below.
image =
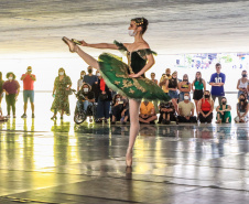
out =
[[(119, 43), (117, 41), (113, 42), (121, 52), (123, 52), (127, 55), (128, 58), (128, 65), (129, 65), (129, 69), (128, 73), (139, 73), (147, 64), (147, 55), (149, 54), (155, 54), (155, 52), (151, 51), (150, 49), (142, 49), (142, 50), (138, 50), (138, 51), (133, 51), (133, 52), (129, 52), (127, 50), (127, 47), (122, 44)], [(144, 77), (144, 74), (141, 75), (142, 77)]]

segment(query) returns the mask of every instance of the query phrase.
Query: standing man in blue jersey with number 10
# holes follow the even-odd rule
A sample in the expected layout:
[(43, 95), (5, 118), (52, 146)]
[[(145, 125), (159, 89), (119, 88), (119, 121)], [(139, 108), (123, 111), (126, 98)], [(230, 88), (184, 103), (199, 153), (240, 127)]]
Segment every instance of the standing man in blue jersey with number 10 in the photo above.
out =
[(210, 94), (215, 103), (216, 97), (218, 97), (219, 106), (221, 105), (221, 98), (225, 96), (224, 84), (226, 80), (226, 75), (220, 72), (221, 65), (217, 63), (215, 65), (216, 73), (210, 76), (209, 85), (212, 86)]

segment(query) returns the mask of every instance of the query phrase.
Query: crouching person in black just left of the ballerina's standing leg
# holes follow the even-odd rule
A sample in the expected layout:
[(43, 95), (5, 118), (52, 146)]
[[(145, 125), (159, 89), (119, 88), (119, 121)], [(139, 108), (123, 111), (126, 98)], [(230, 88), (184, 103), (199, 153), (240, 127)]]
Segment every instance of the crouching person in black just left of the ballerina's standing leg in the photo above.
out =
[(123, 101), (121, 101), (121, 96), (119, 94), (116, 94), (112, 100), (111, 106), (111, 124), (115, 125), (116, 121), (119, 121), (121, 119), (121, 114), (123, 110)]

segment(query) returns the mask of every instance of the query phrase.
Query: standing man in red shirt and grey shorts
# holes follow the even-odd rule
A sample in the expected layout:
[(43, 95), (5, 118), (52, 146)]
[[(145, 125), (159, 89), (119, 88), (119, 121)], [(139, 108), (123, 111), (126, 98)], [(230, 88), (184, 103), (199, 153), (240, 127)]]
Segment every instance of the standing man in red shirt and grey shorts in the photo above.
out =
[(36, 80), (36, 77), (31, 73), (32, 67), (28, 66), (26, 73), (23, 74), (21, 77), (21, 80), (23, 80), (23, 100), (24, 100), (24, 114), (21, 116), (21, 118), (26, 118), (28, 98), (30, 98), (32, 118), (34, 118), (34, 80)]

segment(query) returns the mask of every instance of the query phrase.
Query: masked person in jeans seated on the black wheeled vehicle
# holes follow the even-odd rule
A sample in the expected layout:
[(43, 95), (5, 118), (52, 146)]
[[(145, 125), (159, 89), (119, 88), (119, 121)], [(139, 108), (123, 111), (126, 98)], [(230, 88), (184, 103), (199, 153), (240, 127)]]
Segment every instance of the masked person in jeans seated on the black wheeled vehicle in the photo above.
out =
[[(90, 85), (87, 83), (83, 84), (82, 89), (77, 93), (76, 97), (78, 99), (76, 111), (84, 110), (87, 115), (88, 107), (93, 106), (95, 103), (95, 93), (91, 92)], [(93, 121), (91, 117), (90, 121)]]

